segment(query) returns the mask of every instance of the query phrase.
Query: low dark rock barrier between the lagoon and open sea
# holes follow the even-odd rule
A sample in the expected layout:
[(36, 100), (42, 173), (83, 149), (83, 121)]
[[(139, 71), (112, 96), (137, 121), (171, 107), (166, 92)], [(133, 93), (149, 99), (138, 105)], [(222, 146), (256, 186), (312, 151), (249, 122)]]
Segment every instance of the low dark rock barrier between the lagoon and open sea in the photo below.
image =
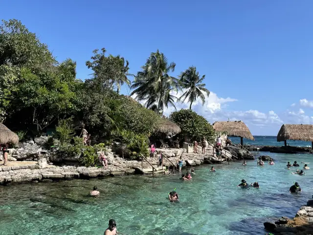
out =
[(261, 151), (271, 153), (310, 153), (312, 148), (309, 147), (297, 147), (297, 146), (272, 146), (272, 145), (244, 145), (244, 147), (250, 151)]

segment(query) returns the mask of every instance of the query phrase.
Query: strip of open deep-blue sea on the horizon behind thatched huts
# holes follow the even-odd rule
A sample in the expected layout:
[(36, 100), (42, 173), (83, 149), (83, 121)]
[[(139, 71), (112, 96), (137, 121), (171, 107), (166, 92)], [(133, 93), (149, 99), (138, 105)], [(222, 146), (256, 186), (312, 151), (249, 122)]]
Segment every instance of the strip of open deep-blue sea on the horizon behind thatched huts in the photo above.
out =
[[(244, 139), (244, 144), (250, 145), (272, 145), (283, 146), (283, 142), (277, 142), (276, 136), (253, 136), (254, 141)], [(233, 143), (240, 143), (240, 137), (229, 137)], [(308, 141), (287, 141), (290, 146), (312, 147), (312, 142)]]

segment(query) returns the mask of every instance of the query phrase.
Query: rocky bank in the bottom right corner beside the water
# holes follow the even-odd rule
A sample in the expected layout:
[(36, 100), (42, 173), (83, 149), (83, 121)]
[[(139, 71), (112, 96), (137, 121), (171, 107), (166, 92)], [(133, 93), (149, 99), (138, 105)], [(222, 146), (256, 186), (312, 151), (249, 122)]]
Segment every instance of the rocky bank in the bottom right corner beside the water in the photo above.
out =
[(294, 218), (282, 217), (275, 222), (265, 222), (266, 231), (274, 235), (312, 235), (313, 234), (313, 200), (301, 206)]

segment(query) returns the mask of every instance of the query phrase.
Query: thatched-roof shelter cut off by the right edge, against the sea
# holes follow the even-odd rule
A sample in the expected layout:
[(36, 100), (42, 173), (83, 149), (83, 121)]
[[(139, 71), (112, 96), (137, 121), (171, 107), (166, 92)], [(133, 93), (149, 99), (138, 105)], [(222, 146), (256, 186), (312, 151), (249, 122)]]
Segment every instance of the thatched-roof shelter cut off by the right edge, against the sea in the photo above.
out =
[(313, 149), (313, 125), (310, 124), (283, 124), (277, 134), (277, 142), (287, 140), (311, 141)]

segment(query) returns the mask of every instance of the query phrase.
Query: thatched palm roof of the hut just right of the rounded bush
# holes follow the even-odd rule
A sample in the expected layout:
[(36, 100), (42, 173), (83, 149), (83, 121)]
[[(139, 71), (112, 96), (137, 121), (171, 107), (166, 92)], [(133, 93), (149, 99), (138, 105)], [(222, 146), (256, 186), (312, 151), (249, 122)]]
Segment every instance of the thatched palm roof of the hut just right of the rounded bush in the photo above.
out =
[(226, 132), (228, 136), (243, 137), (254, 141), (249, 128), (243, 121), (216, 121), (213, 128), (218, 132)]

